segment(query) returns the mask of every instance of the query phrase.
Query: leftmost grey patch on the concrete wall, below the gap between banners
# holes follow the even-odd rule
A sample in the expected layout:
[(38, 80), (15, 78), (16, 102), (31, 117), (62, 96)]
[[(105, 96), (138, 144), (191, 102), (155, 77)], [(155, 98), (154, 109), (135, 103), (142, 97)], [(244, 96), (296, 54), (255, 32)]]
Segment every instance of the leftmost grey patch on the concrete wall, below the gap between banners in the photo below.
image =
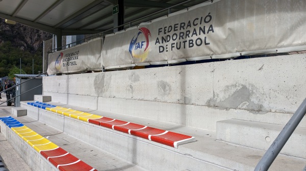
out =
[(94, 90), (97, 96), (103, 96), (110, 87), (110, 78), (106, 74), (98, 74), (94, 78)]

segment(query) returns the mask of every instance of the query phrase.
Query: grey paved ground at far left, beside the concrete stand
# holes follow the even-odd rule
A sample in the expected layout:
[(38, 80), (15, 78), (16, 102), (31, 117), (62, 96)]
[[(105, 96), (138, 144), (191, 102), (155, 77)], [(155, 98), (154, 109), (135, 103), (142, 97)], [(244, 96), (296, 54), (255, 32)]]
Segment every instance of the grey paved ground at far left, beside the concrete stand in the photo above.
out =
[[(5, 94), (2, 93), (1, 96), (0, 104), (6, 99)], [(6, 106), (6, 103), (0, 105), (0, 117), (11, 115), (12, 107)], [(0, 133), (0, 156), (10, 171), (31, 171), (31, 168), (21, 159), (2, 133)]]

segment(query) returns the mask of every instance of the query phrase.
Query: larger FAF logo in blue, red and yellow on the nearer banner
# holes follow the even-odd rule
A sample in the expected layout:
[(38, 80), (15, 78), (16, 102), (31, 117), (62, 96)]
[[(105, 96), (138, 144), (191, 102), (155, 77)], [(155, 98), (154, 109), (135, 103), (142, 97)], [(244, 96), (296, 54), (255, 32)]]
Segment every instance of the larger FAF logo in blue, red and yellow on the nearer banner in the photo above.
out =
[(151, 38), (151, 33), (145, 27), (141, 27), (138, 30), (139, 32), (133, 37), (130, 43), (129, 51), (133, 58), (138, 58), (142, 62), (147, 58), (149, 53), (149, 38)]

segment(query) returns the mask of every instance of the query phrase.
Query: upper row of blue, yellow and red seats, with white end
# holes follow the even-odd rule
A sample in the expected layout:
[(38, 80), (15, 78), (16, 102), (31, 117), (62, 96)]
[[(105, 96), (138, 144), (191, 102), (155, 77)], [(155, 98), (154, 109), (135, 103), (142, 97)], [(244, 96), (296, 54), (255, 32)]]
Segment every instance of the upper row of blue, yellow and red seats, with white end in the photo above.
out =
[(177, 148), (181, 144), (186, 144), (195, 141), (195, 138), (193, 136), (157, 129), (136, 123), (126, 122), (118, 119), (93, 115), (90, 113), (62, 108), (59, 106), (48, 105), (39, 101), (28, 102), (28, 105), (55, 112), (57, 114), (61, 114), (74, 119), (79, 119), (95, 125), (135, 135), (140, 138), (154, 141), (174, 148)]

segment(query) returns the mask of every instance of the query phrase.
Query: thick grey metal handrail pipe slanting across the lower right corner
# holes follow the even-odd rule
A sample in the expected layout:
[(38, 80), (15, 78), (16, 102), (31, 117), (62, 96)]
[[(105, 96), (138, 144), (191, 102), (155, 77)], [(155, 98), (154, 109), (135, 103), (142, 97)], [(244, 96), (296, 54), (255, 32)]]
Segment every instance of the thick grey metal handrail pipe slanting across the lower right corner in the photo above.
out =
[[(300, 121), (303, 119), (305, 114), (306, 114), (306, 98), (304, 99), (302, 104), (298, 107), (298, 109), (295, 111), (295, 113), (290, 118), (288, 123), (285, 125), (281, 133), (278, 134), (277, 138), (271, 144), (271, 146), (266, 151), (262, 159), (259, 161), (254, 171), (266, 171), (269, 169), (274, 159), (276, 158), (278, 153), (281, 152), (286, 142), (290, 138), (291, 134), (293, 133), (297, 125), (300, 123)], [(306, 166), (303, 169), (303, 171), (306, 171)]]

